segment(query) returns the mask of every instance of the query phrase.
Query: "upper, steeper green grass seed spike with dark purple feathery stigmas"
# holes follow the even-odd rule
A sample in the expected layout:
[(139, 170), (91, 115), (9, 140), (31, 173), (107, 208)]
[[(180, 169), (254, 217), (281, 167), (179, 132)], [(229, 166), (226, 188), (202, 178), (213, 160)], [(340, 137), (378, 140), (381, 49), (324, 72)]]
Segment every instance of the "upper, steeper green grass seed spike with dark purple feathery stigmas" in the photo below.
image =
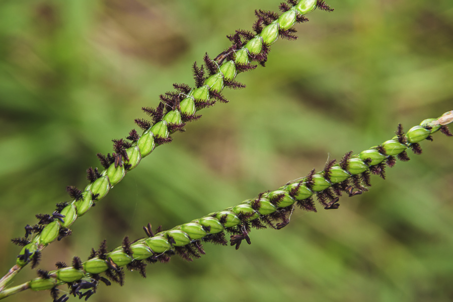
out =
[[(239, 89), (245, 85), (236, 82), (239, 72), (256, 68), (253, 61), (264, 66), (270, 45), (278, 37), (296, 39), (292, 26), (298, 22), (308, 21), (305, 14), (319, 8), (331, 9), (320, 0), (288, 0), (280, 4), (283, 12), (280, 16), (274, 12), (255, 11), (257, 20), (253, 32), (237, 30), (228, 38), (232, 45), (211, 60), (206, 54), (203, 58), (204, 67), (193, 65), (195, 88), (186, 84), (174, 84), (176, 91), (161, 95), (157, 108), (143, 107), (151, 121), (135, 119), (136, 124), (144, 130), (140, 136), (135, 129), (129, 132), (126, 139), (114, 139), (112, 155), (98, 154), (103, 172), (89, 168), (87, 178), (90, 184), (84, 189), (69, 186), (67, 192), (71, 202), (57, 204), (52, 214), (38, 214), (36, 225), (25, 227), (23, 238), (13, 239), (13, 242), (23, 246), (17, 258), (17, 265), (23, 267), (32, 263), (35, 267), (40, 258), (40, 251), (55, 239), (61, 240), (69, 236), (69, 226), (77, 217), (85, 214), (97, 201), (107, 195), (109, 190), (119, 183), (125, 174), (134, 169), (142, 158), (153, 152), (156, 146), (170, 142), (170, 134), (184, 131), (185, 123), (201, 117), (197, 111), (212, 106), (215, 101), (228, 102), (221, 94), (224, 87)], [(205, 76), (205, 71), (207, 76)], [(31, 236), (35, 234), (34, 236)], [(29, 236), (32, 237), (29, 240)]]

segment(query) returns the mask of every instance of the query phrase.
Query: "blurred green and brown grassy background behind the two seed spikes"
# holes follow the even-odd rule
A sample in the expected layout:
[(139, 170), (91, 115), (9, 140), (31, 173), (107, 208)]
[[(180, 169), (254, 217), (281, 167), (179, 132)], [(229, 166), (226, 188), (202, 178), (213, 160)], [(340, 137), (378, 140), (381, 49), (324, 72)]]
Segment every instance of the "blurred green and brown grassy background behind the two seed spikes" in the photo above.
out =
[[(322, 170), (453, 109), (453, 2), (330, 0), (277, 41), (266, 68), (240, 74), (202, 119), (176, 133), (44, 250), (40, 267), (85, 260), (103, 239), (170, 229)], [(251, 29), (254, 9), (278, 2), (3, 0), (0, 3), (0, 271), (14, 263), (34, 214), (84, 188), (96, 153), (137, 128), (172, 83), (193, 85), (191, 64)], [(335, 211), (294, 212), (252, 245), (205, 245), (101, 285), (90, 301), (451, 301), (453, 140), (436, 134), (421, 156), (374, 176), (370, 191)], [(25, 268), (15, 285), (35, 277)], [(63, 290), (65, 288), (62, 288)], [(49, 301), (26, 291), (9, 301)], [(74, 299), (75, 298), (71, 298)]]

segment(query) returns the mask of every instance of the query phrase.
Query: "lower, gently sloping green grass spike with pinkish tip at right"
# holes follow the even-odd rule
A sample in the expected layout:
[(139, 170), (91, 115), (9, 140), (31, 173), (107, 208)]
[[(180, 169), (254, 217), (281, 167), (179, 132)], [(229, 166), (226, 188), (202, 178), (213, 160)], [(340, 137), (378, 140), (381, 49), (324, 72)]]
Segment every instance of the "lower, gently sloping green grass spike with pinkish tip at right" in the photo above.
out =
[[(202, 218), (193, 220), (175, 228), (162, 231), (161, 227), (153, 233), (151, 225), (144, 226), (146, 237), (130, 243), (126, 237), (121, 247), (107, 252), (106, 242), (92, 253), (89, 260), (81, 262), (74, 257), (72, 267), (57, 263), (57, 270), (40, 271), (40, 277), (29, 282), (33, 290), (51, 289), (58, 292), (57, 286), (67, 284), (71, 293), (80, 298), (88, 298), (96, 291), (99, 281), (110, 285), (110, 282), (99, 274), (105, 272), (107, 278), (123, 284), (124, 273), (122, 266), (129, 270), (138, 270), (145, 277), (146, 261), (148, 263), (167, 262), (170, 256), (180, 255), (192, 261), (204, 254), (202, 243), (212, 242), (226, 245), (224, 232), (228, 232), (230, 243), (238, 249), (243, 240), (251, 243), (249, 233), (252, 228), (264, 229), (267, 226), (281, 229), (289, 222), (289, 216), (295, 206), (315, 211), (313, 197), (325, 209), (337, 209), (342, 192), (349, 196), (361, 194), (369, 183), (369, 173), (385, 178), (386, 165), (392, 167), (396, 158), (408, 161), (406, 150), (411, 148), (415, 154), (421, 153), (419, 142), (432, 140), (431, 134), (437, 131), (452, 136), (445, 126), (453, 121), (453, 111), (447, 112), (437, 119), (426, 119), (420, 125), (412, 127), (404, 134), (402, 126), (398, 126), (396, 136), (379, 146), (371, 147), (352, 156), (347, 153), (336, 164), (330, 161), (324, 170), (315, 173), (312, 170), (308, 176), (274, 191), (261, 193), (255, 199), (248, 199), (236, 206), (222, 211), (210, 213)], [(395, 158), (396, 157), (396, 158)], [(275, 222), (278, 222), (274, 225)], [(60, 297), (61, 299), (62, 297)], [(64, 296), (66, 298), (66, 296)], [(57, 300), (57, 296), (54, 296)]]

